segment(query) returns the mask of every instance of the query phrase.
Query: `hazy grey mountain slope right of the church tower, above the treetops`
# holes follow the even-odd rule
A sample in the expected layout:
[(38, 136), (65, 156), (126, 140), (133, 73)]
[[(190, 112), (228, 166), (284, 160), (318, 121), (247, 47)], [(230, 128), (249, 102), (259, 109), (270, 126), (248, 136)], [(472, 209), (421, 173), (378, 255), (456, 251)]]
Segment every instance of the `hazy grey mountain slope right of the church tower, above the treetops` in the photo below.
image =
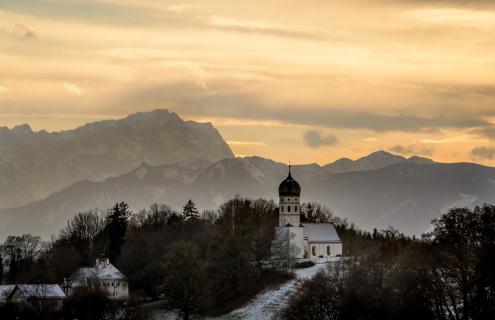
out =
[(426, 231), (453, 206), (494, 201), (495, 168), (471, 163), (400, 163), (373, 171), (332, 174), (312, 180), (304, 198), (326, 203), (361, 226)]

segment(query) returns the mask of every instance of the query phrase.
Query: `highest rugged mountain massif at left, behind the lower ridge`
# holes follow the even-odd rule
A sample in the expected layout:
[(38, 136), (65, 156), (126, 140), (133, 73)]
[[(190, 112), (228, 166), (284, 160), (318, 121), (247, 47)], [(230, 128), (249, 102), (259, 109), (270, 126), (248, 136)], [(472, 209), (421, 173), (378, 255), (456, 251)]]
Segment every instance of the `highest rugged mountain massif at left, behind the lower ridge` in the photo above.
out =
[(155, 110), (74, 130), (33, 132), (28, 125), (0, 128), (0, 208), (41, 199), (82, 180), (123, 174), (146, 162), (211, 162), (233, 157), (210, 123), (183, 121)]

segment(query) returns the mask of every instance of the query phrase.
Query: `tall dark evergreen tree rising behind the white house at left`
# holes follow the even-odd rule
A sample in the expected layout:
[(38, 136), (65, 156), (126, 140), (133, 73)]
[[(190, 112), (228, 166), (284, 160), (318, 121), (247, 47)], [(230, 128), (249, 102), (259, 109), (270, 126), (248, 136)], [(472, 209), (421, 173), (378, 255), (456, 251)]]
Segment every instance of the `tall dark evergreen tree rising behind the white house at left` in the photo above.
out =
[(129, 205), (120, 202), (113, 206), (106, 217), (105, 233), (108, 237), (108, 255), (112, 263), (120, 256), (130, 215)]

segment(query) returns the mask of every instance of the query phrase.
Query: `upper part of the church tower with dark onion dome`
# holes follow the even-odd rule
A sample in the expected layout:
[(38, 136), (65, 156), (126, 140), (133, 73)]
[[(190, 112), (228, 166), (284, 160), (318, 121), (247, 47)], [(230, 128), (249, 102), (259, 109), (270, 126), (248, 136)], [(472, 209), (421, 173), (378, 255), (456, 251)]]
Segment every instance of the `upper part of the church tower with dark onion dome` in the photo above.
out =
[(289, 165), (289, 175), (278, 187), (279, 195), (279, 227), (299, 227), (301, 211), (301, 187), (292, 178)]

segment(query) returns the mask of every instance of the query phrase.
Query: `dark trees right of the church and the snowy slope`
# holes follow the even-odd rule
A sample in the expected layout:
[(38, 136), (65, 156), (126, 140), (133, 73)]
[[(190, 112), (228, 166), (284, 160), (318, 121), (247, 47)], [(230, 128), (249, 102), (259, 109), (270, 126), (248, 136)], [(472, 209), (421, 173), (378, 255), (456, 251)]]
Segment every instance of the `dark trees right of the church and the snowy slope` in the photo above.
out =
[(282, 319), (495, 319), (495, 206), (451, 209), (421, 239), (339, 227), (355, 254), (300, 283)]

